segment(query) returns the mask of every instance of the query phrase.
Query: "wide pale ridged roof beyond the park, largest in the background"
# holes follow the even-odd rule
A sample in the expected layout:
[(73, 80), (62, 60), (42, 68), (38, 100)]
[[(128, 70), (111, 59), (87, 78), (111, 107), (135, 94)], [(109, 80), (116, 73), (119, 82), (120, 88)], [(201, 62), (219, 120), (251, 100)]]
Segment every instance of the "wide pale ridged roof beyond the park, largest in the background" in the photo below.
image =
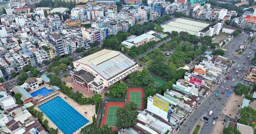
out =
[(192, 20), (186, 20), (178, 18), (175, 21), (169, 22), (167, 25), (163, 25), (163, 31), (187, 31), (189, 34), (198, 35), (198, 32), (209, 26), (208, 23), (201, 23)]

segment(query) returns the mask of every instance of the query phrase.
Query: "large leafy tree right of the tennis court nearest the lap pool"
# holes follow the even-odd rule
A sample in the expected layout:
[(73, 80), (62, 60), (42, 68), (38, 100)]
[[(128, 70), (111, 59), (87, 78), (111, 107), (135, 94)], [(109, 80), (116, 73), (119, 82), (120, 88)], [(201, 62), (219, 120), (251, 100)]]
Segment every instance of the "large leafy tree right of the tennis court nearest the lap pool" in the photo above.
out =
[(134, 102), (126, 104), (123, 108), (119, 107), (116, 111), (116, 127), (129, 128), (130, 126), (134, 126), (137, 117), (136, 109), (137, 104)]

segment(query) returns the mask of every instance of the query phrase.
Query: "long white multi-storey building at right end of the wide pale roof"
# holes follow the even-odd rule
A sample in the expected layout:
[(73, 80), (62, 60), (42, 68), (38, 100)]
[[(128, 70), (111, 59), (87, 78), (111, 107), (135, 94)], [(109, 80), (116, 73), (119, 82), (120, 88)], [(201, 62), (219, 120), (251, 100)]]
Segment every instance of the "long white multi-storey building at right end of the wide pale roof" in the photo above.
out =
[(202, 29), (198, 32), (198, 37), (204, 37), (204, 36), (212, 36), (215, 34), (219, 34), (221, 29), (223, 28), (224, 20), (218, 20), (217, 23), (213, 23), (206, 28)]

